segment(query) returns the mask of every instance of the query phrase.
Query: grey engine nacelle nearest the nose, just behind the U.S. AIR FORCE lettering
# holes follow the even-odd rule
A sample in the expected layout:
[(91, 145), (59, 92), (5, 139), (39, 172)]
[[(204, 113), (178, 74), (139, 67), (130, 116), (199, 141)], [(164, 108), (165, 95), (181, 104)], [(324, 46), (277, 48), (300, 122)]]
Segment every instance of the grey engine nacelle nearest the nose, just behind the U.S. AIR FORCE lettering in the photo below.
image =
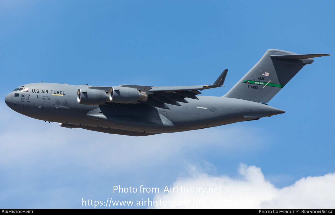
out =
[[(99, 105), (105, 104), (108, 93), (100, 89), (78, 89), (77, 101), (79, 104)], [(108, 101), (108, 100), (107, 100)]]

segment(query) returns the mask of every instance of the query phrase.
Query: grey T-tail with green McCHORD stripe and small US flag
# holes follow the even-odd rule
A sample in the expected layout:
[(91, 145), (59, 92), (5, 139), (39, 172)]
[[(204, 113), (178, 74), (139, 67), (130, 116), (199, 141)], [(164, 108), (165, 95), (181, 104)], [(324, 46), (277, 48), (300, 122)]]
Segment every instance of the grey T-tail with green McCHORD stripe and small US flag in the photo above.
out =
[(313, 57), (328, 55), (269, 49), (223, 97), (267, 103), (300, 69), (311, 64)]

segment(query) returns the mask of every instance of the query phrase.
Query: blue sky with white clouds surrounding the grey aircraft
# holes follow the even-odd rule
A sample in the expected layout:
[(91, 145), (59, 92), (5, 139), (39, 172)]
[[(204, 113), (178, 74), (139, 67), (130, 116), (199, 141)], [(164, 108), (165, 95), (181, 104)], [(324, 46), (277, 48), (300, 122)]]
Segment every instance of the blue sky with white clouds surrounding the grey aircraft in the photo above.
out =
[[(264, 208), (334, 208), (334, 201), (314, 199), (335, 198), (328, 193), (335, 187), (333, 56), (315, 58), (269, 102), (285, 114), (199, 131), (127, 137), (70, 130), (20, 115), (4, 102), (15, 87), (42, 80), (200, 85), (229, 69), (226, 87), (203, 91), (222, 96), (267, 49), (334, 54), (334, 6), (333, 1), (0, 1), (0, 207), (90, 208), (82, 206), (82, 198), (186, 200), (198, 197), (162, 191), (214, 184), (224, 185), (225, 192), (206, 198), (248, 198), (252, 207)], [(160, 192), (119, 194), (114, 185)], [(319, 189), (301, 198), (310, 187)], [(287, 196), (291, 205), (283, 200)]]

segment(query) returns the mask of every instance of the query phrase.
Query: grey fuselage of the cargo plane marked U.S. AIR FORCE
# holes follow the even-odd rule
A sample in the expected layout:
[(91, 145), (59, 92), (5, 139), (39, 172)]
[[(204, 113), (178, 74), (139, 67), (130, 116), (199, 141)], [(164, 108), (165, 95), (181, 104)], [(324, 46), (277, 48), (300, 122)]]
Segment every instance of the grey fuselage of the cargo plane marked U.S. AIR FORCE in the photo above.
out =
[(263, 103), (229, 97), (186, 98), (181, 106), (161, 109), (143, 102), (86, 105), (77, 102), (78, 89), (87, 85), (25, 84), (10, 92), (6, 104), (25, 116), (111, 134), (146, 136), (189, 131), (256, 120), (285, 113)]

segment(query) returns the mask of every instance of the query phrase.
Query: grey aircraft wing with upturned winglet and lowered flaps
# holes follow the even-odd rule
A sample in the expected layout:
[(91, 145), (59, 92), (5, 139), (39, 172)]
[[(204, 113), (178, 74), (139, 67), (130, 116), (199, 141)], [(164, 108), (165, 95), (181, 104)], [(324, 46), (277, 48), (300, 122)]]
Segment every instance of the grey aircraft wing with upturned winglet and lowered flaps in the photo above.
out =
[(170, 109), (166, 104), (181, 106), (179, 102), (188, 103), (185, 98), (199, 99), (196, 95), (201, 94), (198, 90), (210, 89), (223, 86), (228, 69), (225, 69), (216, 81), (211, 85), (196, 86), (141, 86), (123, 84), (121, 87), (131, 87), (139, 89), (148, 94), (146, 101), (141, 101), (147, 105), (157, 108)]

